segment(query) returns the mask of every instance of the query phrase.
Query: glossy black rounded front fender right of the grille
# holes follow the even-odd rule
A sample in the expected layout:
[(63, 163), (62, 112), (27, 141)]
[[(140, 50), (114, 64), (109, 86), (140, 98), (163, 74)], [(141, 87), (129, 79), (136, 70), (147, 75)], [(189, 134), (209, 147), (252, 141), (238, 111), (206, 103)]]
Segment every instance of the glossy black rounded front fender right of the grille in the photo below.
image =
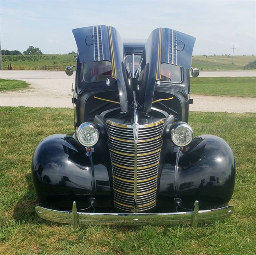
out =
[(159, 205), (166, 208), (168, 204), (173, 209), (175, 198), (182, 199), (188, 208), (195, 200), (200, 202), (200, 209), (226, 205), (234, 182), (235, 160), (229, 145), (220, 137), (200, 135), (184, 151), (174, 147), (167, 154), (160, 177)]

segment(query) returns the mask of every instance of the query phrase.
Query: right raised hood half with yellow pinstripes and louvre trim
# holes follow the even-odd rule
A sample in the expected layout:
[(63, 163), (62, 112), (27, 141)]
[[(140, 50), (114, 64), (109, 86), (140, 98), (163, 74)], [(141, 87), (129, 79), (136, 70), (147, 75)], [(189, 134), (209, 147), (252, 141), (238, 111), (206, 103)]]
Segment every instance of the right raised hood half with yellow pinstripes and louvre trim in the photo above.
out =
[(161, 64), (191, 67), (196, 38), (170, 28), (156, 28), (150, 34), (142, 54), (142, 80), (138, 102), (150, 112), (156, 81), (161, 80)]

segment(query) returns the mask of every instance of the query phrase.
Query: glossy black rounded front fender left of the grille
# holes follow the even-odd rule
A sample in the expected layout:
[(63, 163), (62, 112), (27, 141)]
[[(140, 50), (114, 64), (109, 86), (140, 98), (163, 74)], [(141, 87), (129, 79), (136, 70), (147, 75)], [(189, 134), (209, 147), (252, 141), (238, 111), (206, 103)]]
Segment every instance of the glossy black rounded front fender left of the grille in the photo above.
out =
[[(97, 149), (97, 148), (95, 148)], [(69, 135), (50, 135), (42, 140), (32, 158), (32, 176), (41, 205), (72, 208), (90, 205), (111, 207), (110, 180), (106, 163)]]

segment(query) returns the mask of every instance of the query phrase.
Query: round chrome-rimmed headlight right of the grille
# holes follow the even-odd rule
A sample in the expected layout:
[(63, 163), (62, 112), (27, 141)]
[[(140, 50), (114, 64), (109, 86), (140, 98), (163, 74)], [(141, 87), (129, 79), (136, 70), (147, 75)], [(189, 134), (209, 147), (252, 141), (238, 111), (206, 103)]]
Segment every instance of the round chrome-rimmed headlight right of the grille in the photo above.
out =
[(178, 124), (178, 126), (171, 130), (171, 139), (179, 147), (186, 146), (193, 139), (193, 130), (186, 123)]

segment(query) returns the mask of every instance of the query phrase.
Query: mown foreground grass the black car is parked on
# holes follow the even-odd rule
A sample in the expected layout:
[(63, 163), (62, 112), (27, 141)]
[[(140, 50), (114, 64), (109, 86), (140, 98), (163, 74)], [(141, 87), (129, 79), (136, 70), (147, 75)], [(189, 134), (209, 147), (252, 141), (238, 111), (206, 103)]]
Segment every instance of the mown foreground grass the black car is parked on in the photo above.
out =
[(41, 139), (73, 132), (72, 109), (0, 108), (0, 254), (256, 254), (256, 114), (191, 112), (196, 135), (225, 139), (236, 157), (234, 214), (223, 221), (172, 227), (71, 225), (40, 219), (30, 174)]

